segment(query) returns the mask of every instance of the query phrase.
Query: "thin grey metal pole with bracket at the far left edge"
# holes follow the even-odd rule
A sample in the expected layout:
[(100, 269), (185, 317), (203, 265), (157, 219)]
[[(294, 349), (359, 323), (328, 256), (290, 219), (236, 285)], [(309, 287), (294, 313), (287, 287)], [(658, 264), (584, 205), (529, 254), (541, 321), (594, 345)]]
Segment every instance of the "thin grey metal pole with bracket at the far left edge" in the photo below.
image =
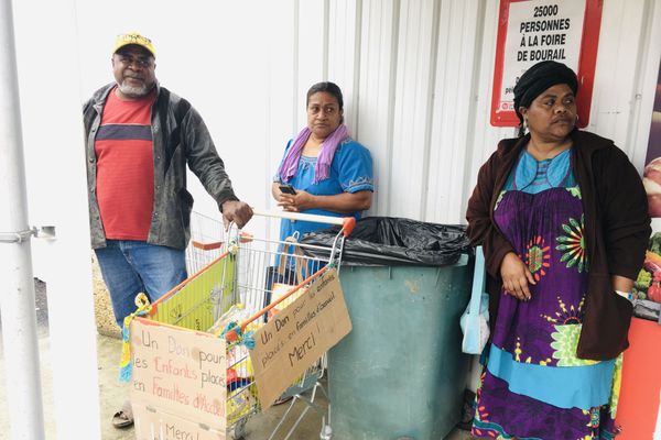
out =
[(0, 0), (0, 314), (13, 440), (44, 439), (19, 81), (10, 0)]

